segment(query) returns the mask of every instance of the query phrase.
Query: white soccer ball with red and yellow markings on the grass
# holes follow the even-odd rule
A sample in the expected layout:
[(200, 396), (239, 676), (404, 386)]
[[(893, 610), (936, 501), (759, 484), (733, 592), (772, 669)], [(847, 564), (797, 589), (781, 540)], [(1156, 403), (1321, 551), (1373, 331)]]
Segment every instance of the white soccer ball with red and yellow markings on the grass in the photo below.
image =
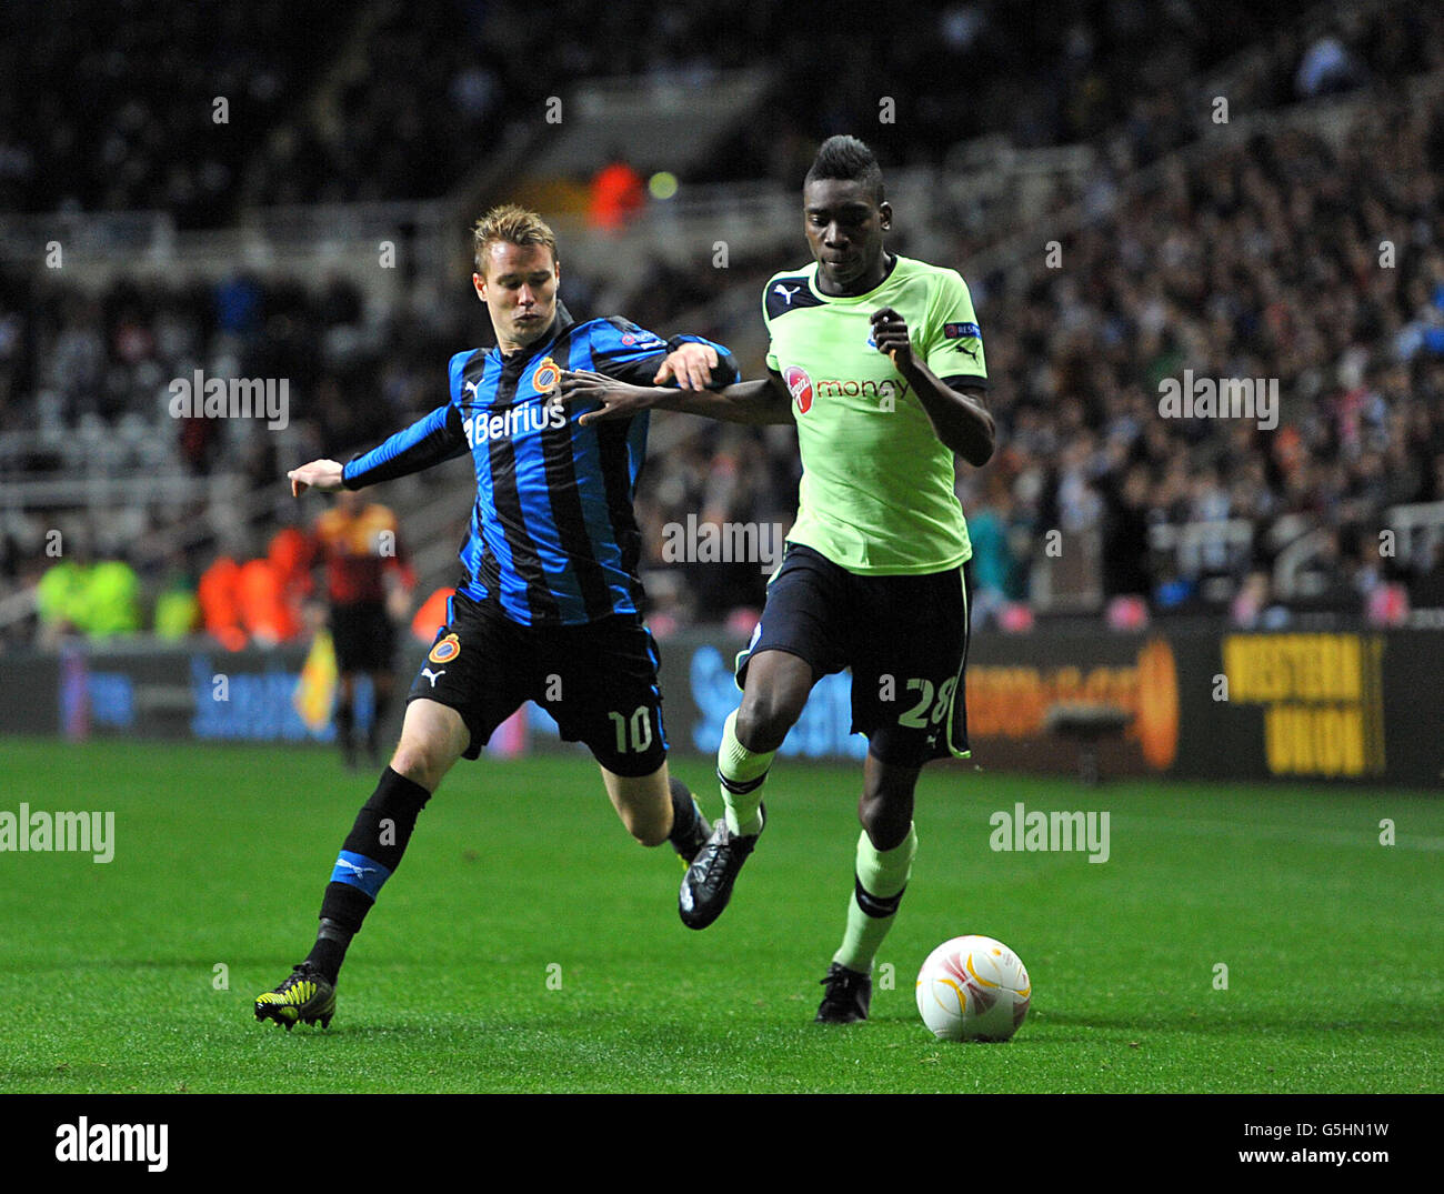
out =
[(940, 1041), (1006, 1041), (1031, 995), (1022, 960), (992, 937), (943, 941), (917, 975), (918, 1015)]

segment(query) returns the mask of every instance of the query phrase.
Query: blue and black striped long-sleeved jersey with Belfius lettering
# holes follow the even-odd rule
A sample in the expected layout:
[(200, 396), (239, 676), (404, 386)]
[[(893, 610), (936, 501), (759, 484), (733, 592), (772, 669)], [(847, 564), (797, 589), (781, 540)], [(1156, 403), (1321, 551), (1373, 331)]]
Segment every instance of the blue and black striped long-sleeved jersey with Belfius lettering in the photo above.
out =
[[(562, 303), (534, 348), (510, 357), (475, 348), (451, 358), (451, 398), (345, 466), (348, 489), (417, 472), (471, 450), (477, 502), (461, 549), (458, 589), (495, 598), (524, 625), (578, 625), (641, 612), (641, 531), (632, 513), (647, 455), (647, 413), (583, 427), (588, 406), (546, 396), (562, 370), (595, 370), (651, 385), (669, 348), (621, 318), (576, 323)], [(712, 384), (736, 380), (732, 355), (713, 344)]]

